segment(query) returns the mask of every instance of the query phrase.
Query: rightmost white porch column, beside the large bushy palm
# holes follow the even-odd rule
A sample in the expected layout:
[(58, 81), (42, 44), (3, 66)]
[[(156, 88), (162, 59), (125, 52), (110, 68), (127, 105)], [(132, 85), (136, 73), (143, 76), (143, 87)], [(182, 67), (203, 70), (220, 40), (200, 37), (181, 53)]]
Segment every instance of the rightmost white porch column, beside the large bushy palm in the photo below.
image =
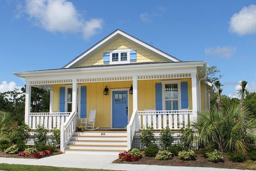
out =
[(197, 86), (197, 78), (196, 73), (191, 73), (191, 80), (192, 80), (192, 108), (193, 108), (193, 115), (191, 117), (192, 120), (197, 118), (197, 111), (198, 111), (198, 86)]

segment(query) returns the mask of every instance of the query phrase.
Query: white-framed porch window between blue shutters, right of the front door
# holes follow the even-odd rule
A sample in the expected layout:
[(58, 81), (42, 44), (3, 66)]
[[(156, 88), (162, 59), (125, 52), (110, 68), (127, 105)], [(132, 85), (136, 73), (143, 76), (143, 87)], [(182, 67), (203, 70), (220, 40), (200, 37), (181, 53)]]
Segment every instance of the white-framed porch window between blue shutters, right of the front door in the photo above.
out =
[(180, 81), (162, 81), (163, 110), (181, 109)]

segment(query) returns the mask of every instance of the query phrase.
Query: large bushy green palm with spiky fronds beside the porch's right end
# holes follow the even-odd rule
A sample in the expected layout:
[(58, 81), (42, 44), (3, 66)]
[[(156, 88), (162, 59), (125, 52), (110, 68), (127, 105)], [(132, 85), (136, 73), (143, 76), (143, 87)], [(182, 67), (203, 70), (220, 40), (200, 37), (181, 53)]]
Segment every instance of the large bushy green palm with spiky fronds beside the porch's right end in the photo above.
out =
[(221, 152), (246, 153), (245, 140), (255, 139), (256, 119), (239, 105), (225, 109), (213, 107), (192, 121), (192, 129), (198, 131), (200, 146), (215, 144)]

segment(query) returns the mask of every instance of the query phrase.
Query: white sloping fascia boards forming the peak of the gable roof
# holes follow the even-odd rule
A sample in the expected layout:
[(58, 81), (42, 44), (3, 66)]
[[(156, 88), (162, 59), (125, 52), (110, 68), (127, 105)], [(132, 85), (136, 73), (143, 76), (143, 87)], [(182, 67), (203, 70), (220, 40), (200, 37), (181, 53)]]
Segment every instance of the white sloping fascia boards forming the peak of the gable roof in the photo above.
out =
[(72, 65), (76, 64), (78, 61), (82, 60), (82, 58), (84, 58), (85, 56), (89, 55), (91, 52), (93, 52), (94, 50), (100, 48), (102, 45), (104, 45), (105, 43), (107, 43), (108, 41), (110, 41), (111, 39), (113, 39), (114, 37), (116, 37), (117, 35), (122, 35), (123, 37), (128, 38), (130, 41), (133, 41), (139, 45), (141, 45), (142, 47), (145, 47), (153, 52), (155, 52), (156, 54), (159, 54), (160, 56), (163, 56), (173, 62), (181, 62), (180, 60), (178, 60), (177, 58), (174, 58), (173, 56), (170, 56), (168, 54), (166, 54), (165, 52), (162, 52), (159, 49), (156, 49), (154, 47), (152, 47), (151, 45), (142, 42), (140, 40), (138, 40), (137, 38), (130, 36), (128, 34), (126, 34), (126, 32), (123, 32), (121, 30), (116, 30), (114, 31), (112, 34), (110, 34), (109, 36), (107, 36), (106, 38), (104, 38), (102, 41), (100, 41), (99, 43), (95, 44), (93, 47), (91, 47), (88, 51), (84, 52), (84, 54), (78, 56), (75, 60), (71, 61), (70, 63), (68, 63), (67, 65), (65, 65), (63, 68), (69, 68)]

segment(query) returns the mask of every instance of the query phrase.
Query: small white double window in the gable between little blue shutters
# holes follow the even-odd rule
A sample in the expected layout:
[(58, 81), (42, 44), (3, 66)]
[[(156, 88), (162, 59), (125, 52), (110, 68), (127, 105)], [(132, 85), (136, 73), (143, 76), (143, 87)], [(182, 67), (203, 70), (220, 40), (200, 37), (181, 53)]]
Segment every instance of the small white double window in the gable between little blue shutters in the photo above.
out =
[(110, 64), (130, 63), (130, 49), (110, 50)]

